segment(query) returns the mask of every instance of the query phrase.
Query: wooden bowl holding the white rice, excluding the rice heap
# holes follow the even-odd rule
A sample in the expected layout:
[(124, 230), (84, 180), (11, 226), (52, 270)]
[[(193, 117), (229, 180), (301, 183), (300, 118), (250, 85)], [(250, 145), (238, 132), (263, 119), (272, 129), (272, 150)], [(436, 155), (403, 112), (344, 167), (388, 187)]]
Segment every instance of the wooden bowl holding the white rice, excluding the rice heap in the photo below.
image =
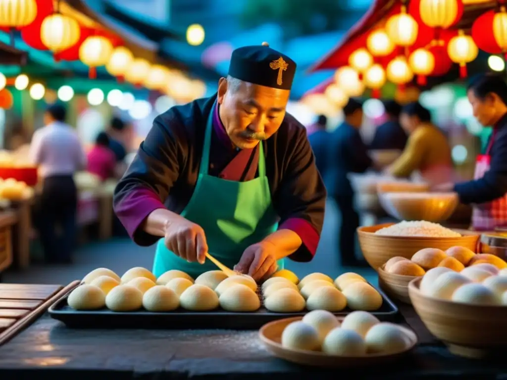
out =
[(455, 245), (477, 252), (480, 235), (473, 231), (453, 230), (463, 236), (456, 238), (432, 238), (420, 236), (384, 236), (375, 232), (394, 223), (364, 226), (357, 229), (359, 245), (366, 261), (378, 270), (391, 257), (402, 256), (411, 259), (414, 253), (423, 248), (439, 248), (445, 251)]

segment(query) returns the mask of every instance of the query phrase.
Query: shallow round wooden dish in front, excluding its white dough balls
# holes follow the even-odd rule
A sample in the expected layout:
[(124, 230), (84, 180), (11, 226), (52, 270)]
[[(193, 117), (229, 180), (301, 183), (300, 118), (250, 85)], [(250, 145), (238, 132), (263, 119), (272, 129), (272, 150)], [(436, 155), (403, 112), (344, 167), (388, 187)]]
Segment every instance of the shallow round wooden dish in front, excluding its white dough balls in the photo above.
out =
[(338, 356), (328, 355), (317, 351), (292, 350), (282, 347), (281, 336), (285, 326), (289, 323), (300, 321), (301, 319), (303, 319), (303, 317), (286, 318), (269, 322), (261, 327), (259, 330), (259, 337), (264, 342), (268, 350), (275, 356), (289, 362), (316, 367), (358, 367), (364, 365), (383, 364), (407, 354), (417, 344), (417, 335), (412, 330), (399, 326), (407, 336), (409, 345), (404, 351), (393, 354)]

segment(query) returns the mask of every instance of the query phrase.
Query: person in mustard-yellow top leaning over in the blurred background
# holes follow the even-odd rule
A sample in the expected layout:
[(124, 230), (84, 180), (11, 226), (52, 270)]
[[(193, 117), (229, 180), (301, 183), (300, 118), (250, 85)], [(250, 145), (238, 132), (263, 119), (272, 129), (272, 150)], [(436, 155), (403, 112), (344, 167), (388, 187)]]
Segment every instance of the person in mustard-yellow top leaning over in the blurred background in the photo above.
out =
[(409, 135), (402, 155), (386, 172), (395, 177), (409, 177), (419, 172), (431, 184), (445, 182), (452, 169), (451, 149), (447, 138), (431, 123), (431, 115), (419, 102), (402, 108), (400, 124)]

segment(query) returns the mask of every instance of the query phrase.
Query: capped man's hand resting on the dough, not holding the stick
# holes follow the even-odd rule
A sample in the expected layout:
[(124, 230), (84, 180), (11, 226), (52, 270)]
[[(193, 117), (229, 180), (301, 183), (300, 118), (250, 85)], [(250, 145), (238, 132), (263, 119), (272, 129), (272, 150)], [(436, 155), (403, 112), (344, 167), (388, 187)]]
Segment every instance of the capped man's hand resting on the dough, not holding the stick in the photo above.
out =
[(269, 242), (260, 242), (245, 249), (234, 270), (259, 281), (276, 272), (276, 260), (276, 246)]

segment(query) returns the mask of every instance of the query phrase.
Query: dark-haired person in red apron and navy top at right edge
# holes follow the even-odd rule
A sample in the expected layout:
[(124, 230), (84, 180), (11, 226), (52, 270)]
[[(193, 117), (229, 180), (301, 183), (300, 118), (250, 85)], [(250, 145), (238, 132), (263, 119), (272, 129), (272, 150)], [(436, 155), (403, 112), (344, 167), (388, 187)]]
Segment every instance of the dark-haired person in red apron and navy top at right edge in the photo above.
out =
[(477, 157), (474, 180), (435, 189), (454, 191), (461, 203), (474, 204), (475, 230), (494, 230), (507, 225), (507, 84), (500, 75), (481, 74), (470, 81), (467, 96), (477, 121), (493, 127), (493, 133)]

